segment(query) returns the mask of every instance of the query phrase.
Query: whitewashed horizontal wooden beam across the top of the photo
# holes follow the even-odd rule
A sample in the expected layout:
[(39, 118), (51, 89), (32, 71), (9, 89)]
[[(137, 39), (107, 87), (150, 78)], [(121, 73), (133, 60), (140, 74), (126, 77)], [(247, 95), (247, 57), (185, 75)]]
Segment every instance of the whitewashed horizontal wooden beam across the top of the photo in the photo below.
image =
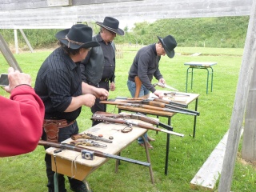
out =
[[(118, 2), (117, 2), (118, 1)], [(252, 0), (144, 0), (144, 1), (95, 1), (90, 5), (41, 6), (35, 9), (38, 1), (26, 1), (26, 6), (14, 6), (14, 0), (0, 4), (0, 29), (39, 29), (49, 26), (70, 26), (76, 22), (102, 21), (112, 16), (119, 20), (152, 20), (160, 18), (202, 18), (249, 15)], [(45, 1), (44, 1), (45, 2)], [(73, 5), (74, 5), (73, 0)], [(85, 1), (86, 2), (86, 1)], [(91, 1), (93, 2), (93, 1)], [(97, 2), (97, 3), (96, 3)], [(17, 2), (21, 4), (22, 2)], [(78, 2), (78, 3), (82, 3)], [(9, 10), (6, 7), (9, 6)], [(32, 9), (33, 7), (33, 9)]]

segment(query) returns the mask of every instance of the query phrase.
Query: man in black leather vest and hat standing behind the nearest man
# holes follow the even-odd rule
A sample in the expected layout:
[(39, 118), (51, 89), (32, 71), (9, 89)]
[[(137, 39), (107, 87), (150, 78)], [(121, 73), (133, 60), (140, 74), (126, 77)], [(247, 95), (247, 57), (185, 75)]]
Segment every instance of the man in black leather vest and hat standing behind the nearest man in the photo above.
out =
[[(116, 34), (124, 35), (124, 31), (118, 28), (119, 22), (115, 18), (106, 17), (103, 22), (96, 22), (96, 24), (100, 26), (100, 32), (93, 37), (93, 40), (100, 46), (91, 49), (86, 59), (82, 61), (82, 81), (114, 91), (115, 46), (113, 40)], [(99, 101), (96, 99), (94, 106), (91, 107), (93, 114), (96, 111), (106, 112), (106, 104)], [(98, 123), (93, 122), (93, 126)]]

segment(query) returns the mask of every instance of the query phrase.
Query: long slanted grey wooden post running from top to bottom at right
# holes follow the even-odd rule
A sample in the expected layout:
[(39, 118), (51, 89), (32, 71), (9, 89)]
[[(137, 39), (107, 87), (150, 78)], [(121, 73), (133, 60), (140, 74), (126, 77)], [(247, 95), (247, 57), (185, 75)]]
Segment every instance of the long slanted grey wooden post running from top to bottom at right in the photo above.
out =
[[(242, 66), (238, 78), (238, 87), (234, 99), (234, 108), (230, 120), (230, 130), (226, 145), (226, 153), (222, 166), (218, 192), (230, 191), (234, 163), (238, 152), (238, 144), (242, 129), (246, 101), (249, 93), (250, 80), (256, 70), (256, 1), (251, 6), (250, 21), (246, 35), (246, 45), (242, 56)], [(254, 110), (254, 106), (250, 106)], [(255, 111), (255, 110), (254, 110)], [(246, 129), (244, 130), (246, 131)]]

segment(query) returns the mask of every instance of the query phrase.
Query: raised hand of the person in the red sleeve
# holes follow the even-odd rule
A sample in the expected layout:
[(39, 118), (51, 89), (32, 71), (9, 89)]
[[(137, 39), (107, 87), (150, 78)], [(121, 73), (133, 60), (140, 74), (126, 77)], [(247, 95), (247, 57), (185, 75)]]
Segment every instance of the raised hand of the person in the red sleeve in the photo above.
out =
[(18, 70), (14, 70), (13, 67), (8, 69), (9, 86), (5, 86), (6, 92), (10, 93), (16, 86), (28, 85), (31, 86), (30, 74), (20, 73)]

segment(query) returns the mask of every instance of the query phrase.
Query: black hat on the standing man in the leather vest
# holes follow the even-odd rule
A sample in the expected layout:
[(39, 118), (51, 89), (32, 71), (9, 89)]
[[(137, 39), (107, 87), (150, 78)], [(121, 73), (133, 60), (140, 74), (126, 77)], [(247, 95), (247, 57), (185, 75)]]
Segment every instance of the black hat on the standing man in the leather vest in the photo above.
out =
[(119, 29), (118, 19), (106, 17), (103, 22), (96, 22), (97, 25), (104, 27), (107, 30), (111, 30), (112, 32), (120, 35), (124, 35), (125, 32)]

